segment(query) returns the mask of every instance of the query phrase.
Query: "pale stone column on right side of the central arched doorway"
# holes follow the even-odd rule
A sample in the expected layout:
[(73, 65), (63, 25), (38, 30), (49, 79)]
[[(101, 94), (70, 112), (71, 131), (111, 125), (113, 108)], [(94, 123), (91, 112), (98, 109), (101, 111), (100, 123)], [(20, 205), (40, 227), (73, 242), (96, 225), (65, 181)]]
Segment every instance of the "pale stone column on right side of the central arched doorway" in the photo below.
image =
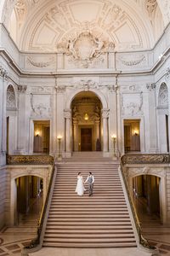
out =
[(108, 117), (109, 110), (102, 110), (102, 118), (103, 118), (103, 152), (108, 152)]

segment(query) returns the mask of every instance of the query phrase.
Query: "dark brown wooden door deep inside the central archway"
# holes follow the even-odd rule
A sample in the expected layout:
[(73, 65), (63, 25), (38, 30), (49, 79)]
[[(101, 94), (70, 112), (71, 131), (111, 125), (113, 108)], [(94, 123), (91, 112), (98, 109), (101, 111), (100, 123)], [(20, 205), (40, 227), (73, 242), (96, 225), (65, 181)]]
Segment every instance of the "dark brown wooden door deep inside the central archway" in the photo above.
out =
[(92, 128), (81, 129), (81, 151), (92, 151)]

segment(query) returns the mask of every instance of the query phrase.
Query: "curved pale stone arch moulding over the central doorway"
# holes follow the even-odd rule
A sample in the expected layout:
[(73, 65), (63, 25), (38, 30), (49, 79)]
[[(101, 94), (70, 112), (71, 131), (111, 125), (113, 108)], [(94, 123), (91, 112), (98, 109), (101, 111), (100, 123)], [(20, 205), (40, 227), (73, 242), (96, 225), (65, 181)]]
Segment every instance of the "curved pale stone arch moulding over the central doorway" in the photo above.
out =
[[(65, 101), (65, 109), (71, 109), (71, 102), (73, 101), (74, 97), (77, 96), (77, 94), (78, 94), (79, 92), (82, 92), (82, 91), (86, 91), (86, 90), (82, 90), (82, 88), (81, 88), (81, 89), (74, 90), (74, 91), (66, 98), (66, 101)], [(99, 91), (99, 90), (97, 90), (97, 89), (94, 89), (94, 88), (92, 88), (92, 89), (90, 88), (90, 90), (88, 90), (88, 91), (94, 92), (94, 94), (99, 97), (99, 100), (100, 100), (100, 102), (101, 102), (101, 104), (102, 104), (103, 109), (107, 109), (107, 108), (108, 108), (108, 103), (107, 103), (107, 101), (106, 101), (106, 98), (105, 98), (105, 96), (103, 95), (103, 93), (102, 93), (101, 91)]]

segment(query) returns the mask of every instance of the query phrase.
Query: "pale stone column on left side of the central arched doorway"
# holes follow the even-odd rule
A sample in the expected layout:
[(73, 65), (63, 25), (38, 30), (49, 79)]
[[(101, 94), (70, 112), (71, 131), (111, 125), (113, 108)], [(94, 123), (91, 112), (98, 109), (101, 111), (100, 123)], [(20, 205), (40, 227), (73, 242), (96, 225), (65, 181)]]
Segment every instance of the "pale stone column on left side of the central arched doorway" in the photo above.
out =
[(65, 154), (71, 156), (71, 110), (65, 109)]

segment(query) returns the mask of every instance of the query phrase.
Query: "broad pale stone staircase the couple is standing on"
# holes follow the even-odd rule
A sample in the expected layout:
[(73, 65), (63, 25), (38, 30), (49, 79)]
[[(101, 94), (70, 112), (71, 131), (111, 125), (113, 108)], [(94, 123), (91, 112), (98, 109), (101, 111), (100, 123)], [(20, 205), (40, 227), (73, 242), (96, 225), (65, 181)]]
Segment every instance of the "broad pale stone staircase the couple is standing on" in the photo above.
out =
[[(93, 196), (75, 193), (78, 172), (94, 174)], [(43, 247), (136, 246), (118, 163), (97, 152), (59, 163)]]

